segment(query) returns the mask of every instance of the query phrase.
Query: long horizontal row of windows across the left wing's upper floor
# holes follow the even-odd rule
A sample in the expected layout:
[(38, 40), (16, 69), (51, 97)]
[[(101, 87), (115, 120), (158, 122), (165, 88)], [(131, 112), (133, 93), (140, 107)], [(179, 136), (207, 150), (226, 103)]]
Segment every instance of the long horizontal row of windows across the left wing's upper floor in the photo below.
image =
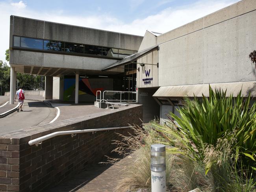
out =
[(18, 36), (13, 36), (13, 46), (21, 47), (21, 48), (37, 49), (37, 50), (52, 50), (52, 51), (62, 51), (62, 52), (69, 52), (69, 53), (90, 54), (90, 55), (99, 55), (99, 56), (106, 56), (106, 57), (121, 57), (121, 58), (137, 53), (137, 51), (132, 51), (132, 50), (109, 48), (109, 47), (102, 47), (102, 46), (95, 46), (95, 45), (85, 45), (85, 44), (62, 42), (62, 41), (33, 39), (33, 38), (18, 37)]

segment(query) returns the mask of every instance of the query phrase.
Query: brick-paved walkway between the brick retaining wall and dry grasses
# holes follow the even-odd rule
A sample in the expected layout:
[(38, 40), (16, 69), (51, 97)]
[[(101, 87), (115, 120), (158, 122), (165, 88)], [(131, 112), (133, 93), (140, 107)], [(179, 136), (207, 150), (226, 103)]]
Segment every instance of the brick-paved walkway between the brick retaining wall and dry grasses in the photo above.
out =
[(124, 178), (122, 170), (135, 160), (136, 156), (132, 153), (113, 165), (91, 164), (80, 174), (73, 175), (44, 192), (114, 192)]

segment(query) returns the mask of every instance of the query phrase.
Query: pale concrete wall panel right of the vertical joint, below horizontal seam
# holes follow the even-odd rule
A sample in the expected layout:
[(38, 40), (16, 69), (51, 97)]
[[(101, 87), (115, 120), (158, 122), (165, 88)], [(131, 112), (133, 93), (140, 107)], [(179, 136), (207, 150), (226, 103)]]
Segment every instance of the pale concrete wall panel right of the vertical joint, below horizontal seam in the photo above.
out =
[(254, 81), (256, 11), (204, 30), (204, 83)]

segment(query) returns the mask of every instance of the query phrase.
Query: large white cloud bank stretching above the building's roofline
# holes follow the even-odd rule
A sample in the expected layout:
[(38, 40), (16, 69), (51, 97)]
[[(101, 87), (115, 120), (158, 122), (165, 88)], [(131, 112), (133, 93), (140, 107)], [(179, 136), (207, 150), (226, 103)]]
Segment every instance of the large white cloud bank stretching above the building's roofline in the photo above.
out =
[[(141, 3), (142, 0), (138, 2)], [(178, 8), (169, 7), (156, 15), (150, 15), (146, 18), (136, 19), (130, 23), (124, 23), (118, 18), (112, 17), (108, 14), (72, 16), (66, 15), (65, 11), (56, 12), (56, 10), (37, 13), (28, 9), (26, 5), (23, 9), (17, 9), (16, 6), (0, 2), (2, 11), (0, 20), (0, 26), (2, 28), (2, 30), (0, 30), (0, 60), (5, 61), (5, 50), (9, 48), (10, 15), (143, 36), (146, 30), (163, 32), (170, 31), (174, 28), (182, 26), (188, 22), (226, 7), (234, 2), (237, 2), (237, 0), (215, 0), (206, 2), (198, 1), (197, 3), (189, 6)], [(23, 4), (22, 1), (19, 3)]]

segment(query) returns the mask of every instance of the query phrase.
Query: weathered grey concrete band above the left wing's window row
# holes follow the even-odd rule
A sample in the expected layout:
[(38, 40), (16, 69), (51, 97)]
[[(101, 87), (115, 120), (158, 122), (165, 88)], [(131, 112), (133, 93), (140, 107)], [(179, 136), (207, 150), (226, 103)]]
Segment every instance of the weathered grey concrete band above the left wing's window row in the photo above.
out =
[[(17, 36), (49, 39), (81, 44), (100, 45), (128, 50), (138, 50), (143, 37), (80, 26), (59, 24), (11, 16), (13, 34)], [(29, 30), (28, 30), (29, 29)], [(10, 47), (12, 44), (10, 44)]]

